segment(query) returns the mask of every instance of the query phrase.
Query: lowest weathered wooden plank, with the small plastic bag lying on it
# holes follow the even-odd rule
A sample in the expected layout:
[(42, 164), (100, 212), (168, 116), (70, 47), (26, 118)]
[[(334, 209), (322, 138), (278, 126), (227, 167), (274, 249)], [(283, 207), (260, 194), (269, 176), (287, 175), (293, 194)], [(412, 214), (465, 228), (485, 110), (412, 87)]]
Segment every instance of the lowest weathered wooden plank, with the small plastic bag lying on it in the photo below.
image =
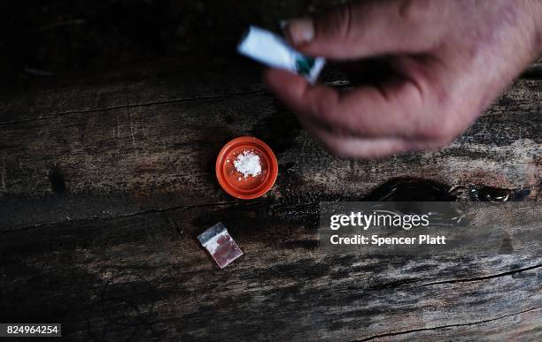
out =
[[(4, 232), (0, 319), (58, 320), (74, 339), (540, 336), (540, 257), (323, 255), (303, 220), (267, 210), (217, 205)], [(196, 239), (217, 219), (244, 250), (224, 270)]]

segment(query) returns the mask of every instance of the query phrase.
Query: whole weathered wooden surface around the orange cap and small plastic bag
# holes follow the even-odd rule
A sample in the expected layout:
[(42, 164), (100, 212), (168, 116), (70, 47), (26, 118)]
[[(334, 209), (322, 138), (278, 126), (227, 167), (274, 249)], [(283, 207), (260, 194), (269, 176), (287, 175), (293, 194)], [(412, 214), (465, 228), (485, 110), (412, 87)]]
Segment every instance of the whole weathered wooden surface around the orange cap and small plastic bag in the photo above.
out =
[[(390, 179), (539, 200), (542, 80), (518, 80), (447, 148), (367, 162), (329, 156), (258, 68), (185, 63), (2, 98), (0, 320), (75, 340), (542, 338), (540, 257), (323, 255), (314, 231), (320, 201)], [(239, 135), (279, 159), (258, 200), (214, 178)], [(224, 270), (196, 239), (218, 221), (244, 251)]]

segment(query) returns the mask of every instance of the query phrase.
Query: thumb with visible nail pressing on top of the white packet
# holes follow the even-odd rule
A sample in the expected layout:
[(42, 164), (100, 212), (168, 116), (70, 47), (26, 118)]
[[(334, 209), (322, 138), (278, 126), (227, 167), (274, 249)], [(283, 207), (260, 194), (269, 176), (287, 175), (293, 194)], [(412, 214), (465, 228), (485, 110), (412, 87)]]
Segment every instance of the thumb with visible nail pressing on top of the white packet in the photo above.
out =
[(296, 49), (312, 56), (347, 59), (424, 52), (435, 45), (442, 27), (438, 12), (427, 4), (345, 4), (314, 18), (291, 19), (284, 32)]

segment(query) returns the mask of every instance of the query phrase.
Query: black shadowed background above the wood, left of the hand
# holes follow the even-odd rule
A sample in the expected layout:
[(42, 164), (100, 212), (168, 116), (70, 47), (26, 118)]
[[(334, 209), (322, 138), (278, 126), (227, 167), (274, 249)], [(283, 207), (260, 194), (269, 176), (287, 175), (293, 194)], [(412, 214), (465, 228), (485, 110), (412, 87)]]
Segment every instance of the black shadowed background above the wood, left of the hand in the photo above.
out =
[[(7, 1), (0, 4), (0, 91), (163, 57), (236, 56), (249, 24), (328, 8), (329, 1)], [(158, 60), (157, 59), (157, 60)]]

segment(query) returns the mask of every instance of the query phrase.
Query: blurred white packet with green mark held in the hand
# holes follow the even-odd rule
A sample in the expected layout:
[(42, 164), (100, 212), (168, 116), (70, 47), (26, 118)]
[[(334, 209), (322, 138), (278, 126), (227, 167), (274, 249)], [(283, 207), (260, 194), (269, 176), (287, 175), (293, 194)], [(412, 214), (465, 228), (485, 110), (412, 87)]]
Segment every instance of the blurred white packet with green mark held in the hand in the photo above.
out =
[(305, 56), (281, 36), (259, 27), (249, 27), (237, 51), (265, 65), (297, 73), (311, 83), (326, 63), (325, 58)]

